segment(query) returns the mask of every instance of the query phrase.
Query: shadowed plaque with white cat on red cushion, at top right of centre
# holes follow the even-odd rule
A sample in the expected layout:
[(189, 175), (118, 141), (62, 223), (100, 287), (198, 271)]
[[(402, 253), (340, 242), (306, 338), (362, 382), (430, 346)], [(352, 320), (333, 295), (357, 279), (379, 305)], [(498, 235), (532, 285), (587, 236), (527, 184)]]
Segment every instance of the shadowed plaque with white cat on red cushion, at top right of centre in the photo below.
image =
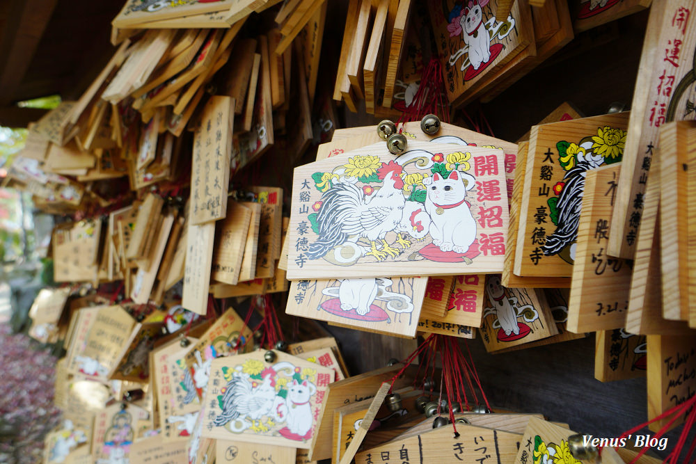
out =
[(481, 0), (471, 6), (449, 0), (430, 8), (448, 100), (457, 106), (467, 90), (511, 61), (534, 42), (531, 11), (516, 1), (509, 15), (498, 17), (500, 0)]

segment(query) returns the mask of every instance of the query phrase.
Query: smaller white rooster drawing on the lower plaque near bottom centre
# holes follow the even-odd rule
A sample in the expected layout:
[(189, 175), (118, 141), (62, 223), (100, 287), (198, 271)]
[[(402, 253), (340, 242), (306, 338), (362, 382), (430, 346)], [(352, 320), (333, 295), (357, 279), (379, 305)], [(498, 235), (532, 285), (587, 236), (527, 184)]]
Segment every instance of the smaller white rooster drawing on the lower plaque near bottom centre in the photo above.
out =
[(253, 431), (269, 431), (270, 427), (275, 425), (274, 422), (268, 417), (267, 423), (263, 424), (261, 419), (269, 416), (276, 399), (276, 389), (271, 375), (267, 374), (258, 387), (253, 387), (244, 376), (232, 376), (222, 397), (222, 412), (215, 418), (214, 424), (223, 426), (238, 417), (247, 417), (253, 422)]

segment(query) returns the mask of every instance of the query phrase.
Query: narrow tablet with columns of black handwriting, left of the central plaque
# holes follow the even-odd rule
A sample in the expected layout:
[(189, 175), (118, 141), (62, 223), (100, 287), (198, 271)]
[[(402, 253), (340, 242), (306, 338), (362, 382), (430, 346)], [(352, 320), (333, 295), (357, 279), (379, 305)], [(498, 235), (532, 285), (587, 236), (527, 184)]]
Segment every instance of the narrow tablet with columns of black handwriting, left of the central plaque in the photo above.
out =
[(232, 104), (230, 97), (217, 95), (211, 97), (203, 109), (191, 163), (190, 221), (193, 225), (217, 221), (226, 214), (234, 120)]

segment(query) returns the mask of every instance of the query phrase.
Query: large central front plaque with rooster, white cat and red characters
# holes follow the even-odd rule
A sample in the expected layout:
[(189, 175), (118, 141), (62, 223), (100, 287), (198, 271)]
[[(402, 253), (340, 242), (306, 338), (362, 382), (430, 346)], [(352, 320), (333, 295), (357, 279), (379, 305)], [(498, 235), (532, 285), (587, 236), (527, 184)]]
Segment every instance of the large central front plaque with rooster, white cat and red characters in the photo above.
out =
[(288, 278), (500, 272), (504, 188), (502, 150), (459, 145), (411, 142), (395, 160), (381, 143), (296, 168)]

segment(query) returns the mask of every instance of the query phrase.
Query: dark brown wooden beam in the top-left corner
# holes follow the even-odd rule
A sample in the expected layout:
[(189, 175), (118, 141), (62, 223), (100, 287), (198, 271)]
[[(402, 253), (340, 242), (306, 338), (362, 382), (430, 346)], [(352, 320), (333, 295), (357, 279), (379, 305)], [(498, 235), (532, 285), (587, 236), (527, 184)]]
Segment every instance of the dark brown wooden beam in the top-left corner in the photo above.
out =
[(29, 69), (57, 0), (15, 2), (0, 42), (0, 106), (13, 101), (17, 86)]

